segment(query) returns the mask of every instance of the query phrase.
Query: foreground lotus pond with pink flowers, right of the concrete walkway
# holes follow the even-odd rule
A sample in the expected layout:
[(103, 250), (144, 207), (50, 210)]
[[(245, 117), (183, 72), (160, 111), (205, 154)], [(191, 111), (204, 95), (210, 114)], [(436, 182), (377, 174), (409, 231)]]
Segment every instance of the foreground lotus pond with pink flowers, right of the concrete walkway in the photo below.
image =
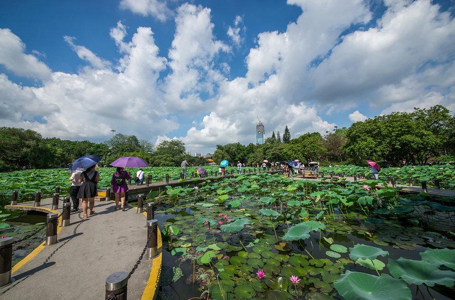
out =
[(450, 299), (453, 199), (280, 175), (156, 197), (159, 299)]

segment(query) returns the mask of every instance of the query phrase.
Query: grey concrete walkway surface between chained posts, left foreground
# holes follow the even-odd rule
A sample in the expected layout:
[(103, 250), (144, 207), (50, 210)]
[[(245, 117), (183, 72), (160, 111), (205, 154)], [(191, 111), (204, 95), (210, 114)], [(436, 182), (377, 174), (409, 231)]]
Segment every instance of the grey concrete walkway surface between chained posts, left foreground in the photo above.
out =
[[(50, 207), (50, 200), (41, 200), (41, 207)], [(13, 269), (15, 281), (0, 288), (0, 299), (104, 299), (106, 277), (130, 272), (147, 240), (145, 216), (131, 206), (114, 207), (112, 201), (95, 202), (95, 215), (83, 222), (72, 213), (56, 244), (40, 246), (29, 262)], [(128, 299), (141, 299), (151, 269), (152, 261), (144, 258), (128, 280)]]

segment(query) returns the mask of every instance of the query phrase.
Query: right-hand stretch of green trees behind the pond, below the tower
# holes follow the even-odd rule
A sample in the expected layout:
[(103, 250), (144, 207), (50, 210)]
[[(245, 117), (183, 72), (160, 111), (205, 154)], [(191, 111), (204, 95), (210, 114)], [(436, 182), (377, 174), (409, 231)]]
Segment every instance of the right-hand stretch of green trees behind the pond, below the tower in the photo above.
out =
[(283, 140), (280, 133), (265, 139), (263, 145), (232, 143), (217, 145), (213, 160), (258, 163), (299, 159), (324, 163), (363, 165), (372, 159), (383, 165), (413, 162), (455, 161), (455, 118), (441, 105), (413, 112), (394, 112), (355, 122), (322, 136), (307, 133), (291, 139), (288, 126)]

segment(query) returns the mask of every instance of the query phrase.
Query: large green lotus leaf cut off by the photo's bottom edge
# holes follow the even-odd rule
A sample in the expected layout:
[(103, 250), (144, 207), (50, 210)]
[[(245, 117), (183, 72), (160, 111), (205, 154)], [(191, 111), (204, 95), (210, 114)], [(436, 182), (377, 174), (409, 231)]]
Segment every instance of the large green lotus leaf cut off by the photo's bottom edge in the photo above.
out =
[(374, 276), (346, 271), (333, 284), (338, 293), (349, 300), (411, 300), (412, 293), (406, 283), (390, 275)]

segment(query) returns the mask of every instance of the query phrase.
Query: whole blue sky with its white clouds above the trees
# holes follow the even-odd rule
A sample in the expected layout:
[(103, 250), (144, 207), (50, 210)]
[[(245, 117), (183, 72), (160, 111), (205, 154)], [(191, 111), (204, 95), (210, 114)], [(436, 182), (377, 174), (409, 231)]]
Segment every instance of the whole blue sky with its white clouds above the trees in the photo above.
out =
[(455, 0), (0, 2), (0, 126), (188, 151), (455, 111)]

